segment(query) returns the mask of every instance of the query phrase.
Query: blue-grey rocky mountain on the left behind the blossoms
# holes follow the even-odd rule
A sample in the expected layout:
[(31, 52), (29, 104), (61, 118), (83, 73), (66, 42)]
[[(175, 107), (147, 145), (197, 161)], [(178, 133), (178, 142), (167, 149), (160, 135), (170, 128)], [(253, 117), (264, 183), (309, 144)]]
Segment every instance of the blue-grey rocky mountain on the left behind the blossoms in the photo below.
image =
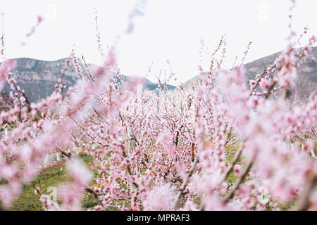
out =
[[(38, 101), (41, 98), (49, 96), (55, 91), (55, 85), (58, 79), (61, 78), (64, 68), (66, 68), (66, 58), (55, 61), (36, 60), (32, 58), (15, 58), (16, 68), (11, 71), (12, 76), (17, 81), (21, 90), (25, 90), (25, 95), (30, 102)], [(78, 65), (82, 75), (87, 76), (86, 68), (81, 60), (78, 59)], [(88, 68), (95, 65), (89, 64)], [(125, 77), (130, 80), (132, 77)], [(73, 62), (67, 68), (63, 82), (67, 86), (73, 86), (77, 81), (77, 73)], [(154, 90), (158, 84), (150, 82), (149, 79), (144, 78), (143, 89)], [(174, 89), (175, 86), (168, 85), (168, 89)], [(4, 89), (1, 91), (1, 96), (8, 100), (8, 92), (11, 91), (10, 86), (6, 82)]]

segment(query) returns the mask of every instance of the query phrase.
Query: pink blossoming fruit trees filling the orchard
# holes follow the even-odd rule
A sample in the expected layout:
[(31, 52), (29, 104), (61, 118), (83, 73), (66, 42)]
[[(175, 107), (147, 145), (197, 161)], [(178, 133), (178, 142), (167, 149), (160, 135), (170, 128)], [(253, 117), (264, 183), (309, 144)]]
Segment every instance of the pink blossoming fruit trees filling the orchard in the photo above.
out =
[[(58, 189), (61, 204), (41, 195), (45, 210), (81, 210), (85, 191), (97, 200), (94, 210), (279, 210), (280, 203), (294, 199), (294, 210), (317, 210), (317, 164), (311, 155), (316, 93), (298, 102), (290, 100), (289, 91), (316, 39), (295, 49), (303, 35), (297, 36), (291, 23), (290, 30), (287, 49), (249, 84), (243, 65), (220, 70), (223, 37), (210, 70), (192, 89), (180, 84), (170, 92), (168, 80), (159, 80), (156, 90), (139, 93), (142, 80), (125, 82), (116, 44), (104, 51), (97, 29), (104, 66), (87, 68), (86, 77), (72, 51), (68, 60), (77, 68), (77, 84), (65, 93), (62, 75), (56, 91), (37, 103), (30, 103), (11, 77), (14, 61), (6, 59), (3, 36), (0, 77), (11, 84), (13, 101), (0, 113), (2, 123), (13, 124), (0, 140), (4, 207), (37, 176), (45, 155), (59, 152), (68, 159), (73, 182)], [(78, 153), (94, 157), (98, 176)]]

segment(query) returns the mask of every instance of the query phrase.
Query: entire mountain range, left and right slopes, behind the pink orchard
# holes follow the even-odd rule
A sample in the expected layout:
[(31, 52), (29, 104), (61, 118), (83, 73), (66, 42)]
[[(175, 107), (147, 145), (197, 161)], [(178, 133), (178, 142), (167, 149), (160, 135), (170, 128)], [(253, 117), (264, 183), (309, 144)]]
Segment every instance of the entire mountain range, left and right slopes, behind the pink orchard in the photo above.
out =
[[(256, 74), (272, 65), (279, 55), (280, 52), (274, 53), (271, 56), (266, 56), (244, 65), (244, 68), (247, 70), (248, 79), (254, 79)], [(53, 93), (53, 91), (55, 91), (55, 84), (58, 83), (58, 79), (61, 78), (62, 72), (64, 68), (66, 68), (66, 59), (44, 61), (32, 58), (16, 58), (15, 61), (17, 66), (11, 71), (12, 76), (16, 79), (20, 89), (25, 90), (25, 94), (30, 102), (38, 101)], [(78, 64), (82, 74), (87, 76), (85, 66), (81, 63), (80, 59), (78, 59)], [(93, 66), (95, 65), (88, 65), (89, 68)], [(295, 89), (301, 98), (305, 98), (305, 96), (309, 96), (311, 91), (317, 90), (317, 47), (313, 47), (308, 56), (302, 59), (302, 64), (298, 68), (297, 74), (298, 79)], [(128, 82), (132, 79), (130, 76), (123, 77), (125, 77)], [(67, 86), (73, 86), (77, 79), (75, 67), (73, 63), (70, 62), (63, 81), (66, 82)], [(191, 85), (197, 85), (197, 81), (198, 77), (196, 76), (185, 82), (185, 86), (189, 88)], [(157, 86), (158, 84), (144, 78), (143, 89), (154, 90)], [(167, 86), (169, 90), (175, 89), (175, 86), (169, 84)], [(10, 102), (8, 98), (8, 92), (10, 90), (10, 86), (6, 82), (4, 89), (1, 91), (1, 96), (6, 103)], [(0, 109), (1, 108), (4, 108), (3, 104), (0, 104)]]

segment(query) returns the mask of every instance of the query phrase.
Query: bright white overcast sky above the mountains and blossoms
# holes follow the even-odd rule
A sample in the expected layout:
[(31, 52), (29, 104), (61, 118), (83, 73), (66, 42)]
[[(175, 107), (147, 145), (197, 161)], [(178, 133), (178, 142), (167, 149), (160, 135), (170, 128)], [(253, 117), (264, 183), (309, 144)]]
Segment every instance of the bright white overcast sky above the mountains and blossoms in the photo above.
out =
[[(136, 2), (1, 0), (8, 57), (57, 60), (68, 57), (76, 44), (77, 56), (83, 53), (89, 63), (100, 63), (93, 7), (99, 11), (99, 29), (106, 46), (125, 30), (128, 13)], [(309, 32), (317, 34), (316, 6), (316, 0), (298, 0), (294, 25), (299, 32), (308, 25)], [(120, 39), (120, 70), (123, 75), (144, 76), (154, 61), (148, 78), (155, 81), (159, 70), (168, 68), (166, 60), (169, 59), (178, 81), (185, 82), (197, 75), (200, 39), (213, 50), (225, 33), (226, 68), (232, 66), (236, 56), (240, 63), (249, 41), (252, 45), (246, 63), (268, 56), (286, 44), (289, 7), (289, 0), (149, 0), (145, 16), (135, 19), (134, 32)], [(20, 41), (25, 41), (25, 34), (35, 25), (37, 15), (45, 20), (27, 39), (27, 46), (22, 46)], [(207, 70), (208, 66), (204, 68)]]

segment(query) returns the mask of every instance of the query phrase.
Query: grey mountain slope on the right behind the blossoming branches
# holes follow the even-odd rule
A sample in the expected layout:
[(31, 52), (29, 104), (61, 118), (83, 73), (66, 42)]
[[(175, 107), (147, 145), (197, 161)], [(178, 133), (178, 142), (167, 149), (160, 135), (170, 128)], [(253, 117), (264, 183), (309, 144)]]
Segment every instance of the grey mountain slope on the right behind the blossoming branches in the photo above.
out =
[[(269, 68), (281, 52), (274, 53), (270, 56), (254, 60), (244, 65), (247, 71), (247, 78), (255, 79), (256, 75)], [(198, 76), (185, 82), (185, 86), (197, 85)], [(297, 68), (297, 81), (292, 92), (297, 91), (300, 98), (306, 98), (312, 91), (317, 90), (317, 47), (313, 47), (308, 56), (302, 58), (301, 65)]]

